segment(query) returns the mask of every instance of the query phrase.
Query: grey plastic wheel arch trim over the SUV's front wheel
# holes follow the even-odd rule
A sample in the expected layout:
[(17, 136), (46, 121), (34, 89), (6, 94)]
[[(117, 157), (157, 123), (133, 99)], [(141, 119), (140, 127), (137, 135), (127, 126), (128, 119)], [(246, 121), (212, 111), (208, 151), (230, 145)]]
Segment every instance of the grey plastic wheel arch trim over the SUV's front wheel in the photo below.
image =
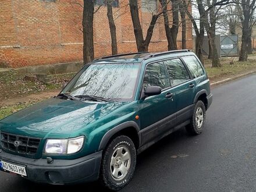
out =
[(99, 144), (99, 151), (104, 150), (112, 138), (119, 135), (130, 137), (136, 149), (138, 149), (141, 141), (140, 134), (138, 134), (139, 131), (140, 128), (138, 127), (137, 123), (133, 121), (125, 122), (116, 127), (113, 127), (102, 137), (101, 143)]

